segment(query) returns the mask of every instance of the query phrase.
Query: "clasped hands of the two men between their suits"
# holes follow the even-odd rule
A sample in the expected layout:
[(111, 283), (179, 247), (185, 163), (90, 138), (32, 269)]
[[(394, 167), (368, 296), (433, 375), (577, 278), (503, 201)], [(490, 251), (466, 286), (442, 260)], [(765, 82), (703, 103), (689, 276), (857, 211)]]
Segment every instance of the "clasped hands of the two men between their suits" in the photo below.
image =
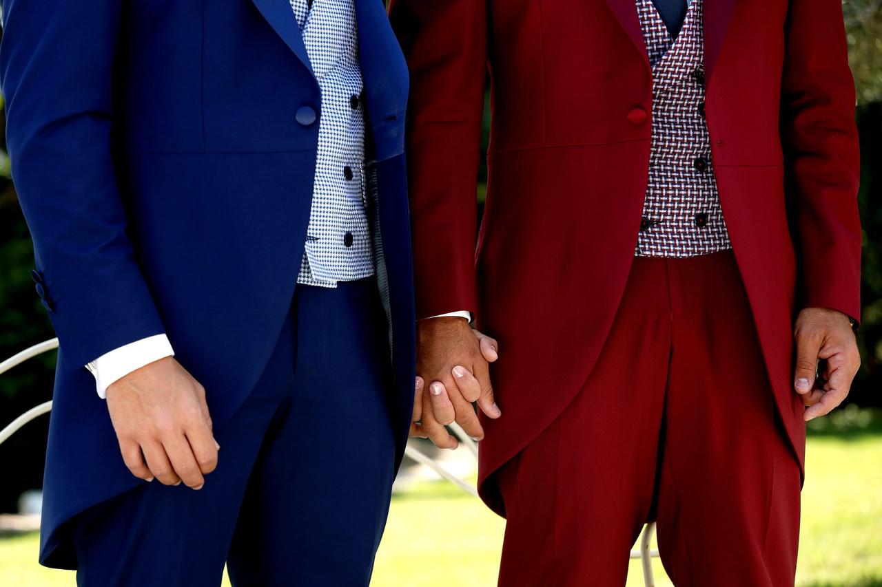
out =
[[(427, 318), (417, 323), (417, 360), (411, 435), (430, 438), (441, 449), (459, 443), (445, 426), (454, 420), (467, 435), (484, 431), (472, 402), (490, 418), (502, 415), (493, 399), (489, 362), (498, 358), (493, 338), (473, 331), (460, 317)], [(430, 382), (425, 393), (425, 382)], [(419, 422), (419, 423), (417, 423)]]

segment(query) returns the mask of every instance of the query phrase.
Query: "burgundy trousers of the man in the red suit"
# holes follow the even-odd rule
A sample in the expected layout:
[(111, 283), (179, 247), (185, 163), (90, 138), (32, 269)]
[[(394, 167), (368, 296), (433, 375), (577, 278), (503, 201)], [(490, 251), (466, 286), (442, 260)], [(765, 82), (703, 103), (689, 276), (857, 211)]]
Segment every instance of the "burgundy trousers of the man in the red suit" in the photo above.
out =
[(731, 252), (636, 258), (584, 388), (497, 479), (502, 586), (622, 587), (650, 520), (678, 587), (793, 585), (800, 472)]

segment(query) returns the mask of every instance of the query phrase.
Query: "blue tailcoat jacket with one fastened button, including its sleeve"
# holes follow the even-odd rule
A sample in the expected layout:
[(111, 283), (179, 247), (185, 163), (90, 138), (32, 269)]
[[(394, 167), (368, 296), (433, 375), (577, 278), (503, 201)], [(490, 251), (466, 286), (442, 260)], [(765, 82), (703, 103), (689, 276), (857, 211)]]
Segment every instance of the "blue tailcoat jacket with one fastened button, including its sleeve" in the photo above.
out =
[[(303, 255), (318, 83), (288, 0), (2, 0), (12, 175), (61, 341), (41, 561), (65, 524), (139, 481), (83, 366), (161, 332), (215, 422), (256, 383)], [(407, 66), (382, 0), (355, 0), (400, 394), (414, 376)], [(307, 122), (304, 124), (304, 122)]]

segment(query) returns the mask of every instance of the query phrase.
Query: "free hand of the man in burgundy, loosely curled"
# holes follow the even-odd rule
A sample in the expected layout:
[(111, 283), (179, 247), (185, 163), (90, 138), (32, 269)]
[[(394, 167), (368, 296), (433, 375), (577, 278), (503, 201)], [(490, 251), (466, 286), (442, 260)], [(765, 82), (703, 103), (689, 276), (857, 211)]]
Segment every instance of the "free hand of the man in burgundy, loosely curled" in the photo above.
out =
[[(826, 308), (805, 308), (796, 316), (796, 393), (803, 396), (805, 420), (824, 416), (848, 396), (861, 366), (848, 316)], [(818, 360), (825, 361), (818, 370)]]

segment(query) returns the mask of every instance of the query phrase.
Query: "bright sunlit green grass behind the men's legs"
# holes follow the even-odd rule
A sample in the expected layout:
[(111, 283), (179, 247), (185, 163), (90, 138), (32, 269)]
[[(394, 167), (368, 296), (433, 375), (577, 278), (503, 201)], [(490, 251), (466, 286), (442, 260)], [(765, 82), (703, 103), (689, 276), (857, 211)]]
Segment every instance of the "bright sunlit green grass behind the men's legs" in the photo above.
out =
[[(843, 410), (813, 423), (797, 583), (801, 587), (882, 587), (882, 416)], [(443, 483), (426, 483), (392, 502), (377, 554), (377, 587), (496, 584), (505, 525), (480, 502)], [(0, 539), (0, 585), (73, 584), (70, 572), (37, 565), (34, 534)], [(661, 563), (656, 584), (670, 585)], [(629, 586), (642, 585), (632, 561)]]

